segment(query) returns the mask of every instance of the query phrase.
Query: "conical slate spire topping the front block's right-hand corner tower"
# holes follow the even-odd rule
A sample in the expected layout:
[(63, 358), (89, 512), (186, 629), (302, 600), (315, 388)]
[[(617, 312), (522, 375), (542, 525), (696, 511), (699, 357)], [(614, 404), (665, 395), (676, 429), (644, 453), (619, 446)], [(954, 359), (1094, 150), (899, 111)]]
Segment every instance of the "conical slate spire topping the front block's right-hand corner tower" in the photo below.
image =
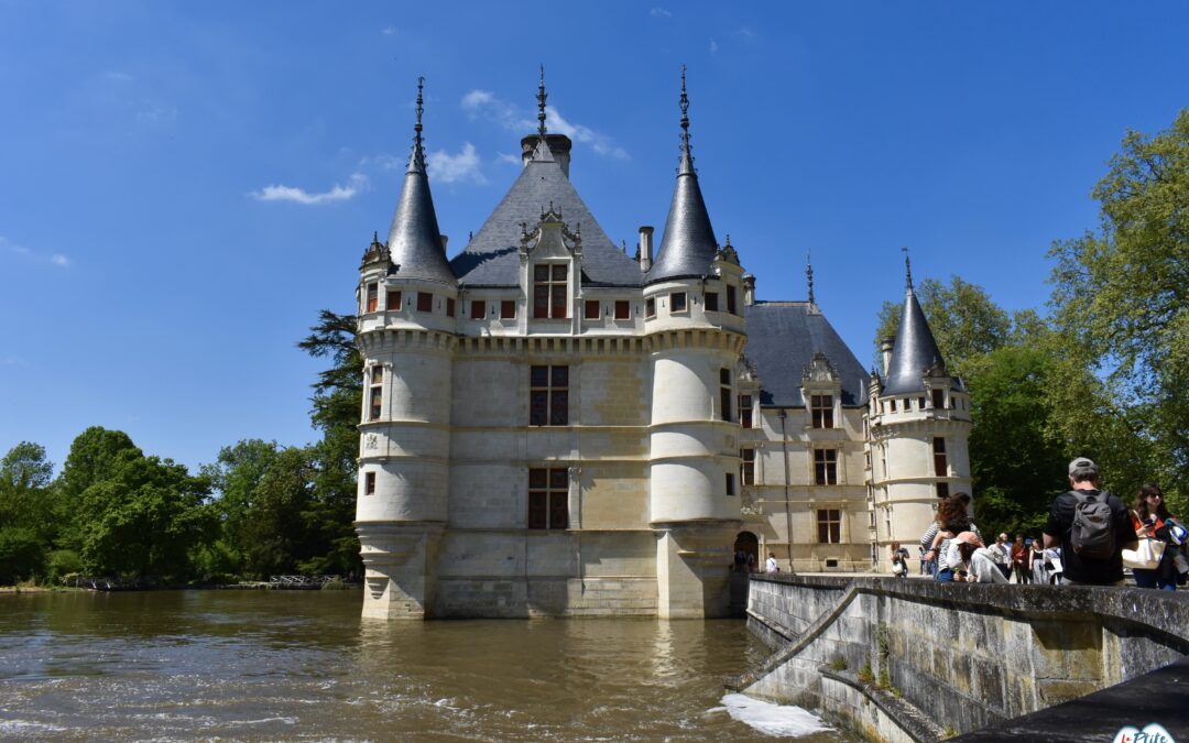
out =
[(710, 272), (718, 251), (715, 229), (710, 225), (706, 203), (702, 199), (698, 174), (693, 169), (690, 150), (690, 99), (685, 93), (685, 68), (681, 68), (681, 159), (677, 169), (677, 187), (665, 221), (656, 260), (648, 271), (647, 283), (682, 277), (699, 277)]

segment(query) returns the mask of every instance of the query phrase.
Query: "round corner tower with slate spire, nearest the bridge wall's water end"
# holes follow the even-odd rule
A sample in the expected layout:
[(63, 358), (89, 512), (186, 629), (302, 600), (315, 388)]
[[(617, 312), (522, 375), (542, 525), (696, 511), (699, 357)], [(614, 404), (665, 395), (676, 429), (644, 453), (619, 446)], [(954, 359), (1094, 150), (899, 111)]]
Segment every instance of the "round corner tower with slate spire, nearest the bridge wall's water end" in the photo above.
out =
[(746, 340), (738, 257), (719, 247), (690, 147), (681, 70), (681, 153), (656, 260), (644, 276), (650, 348), (649, 523), (656, 535), (658, 613), (728, 611), (740, 518), (735, 370)]

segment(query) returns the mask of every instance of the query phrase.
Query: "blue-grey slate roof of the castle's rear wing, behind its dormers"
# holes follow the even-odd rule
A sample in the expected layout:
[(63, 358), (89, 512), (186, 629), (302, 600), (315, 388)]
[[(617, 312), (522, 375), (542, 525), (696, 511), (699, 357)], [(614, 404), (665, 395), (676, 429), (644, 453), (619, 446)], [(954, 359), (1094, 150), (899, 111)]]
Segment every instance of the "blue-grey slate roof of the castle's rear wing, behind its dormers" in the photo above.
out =
[(847, 344), (809, 302), (756, 302), (746, 307), (747, 350), (760, 374), (760, 404), (803, 408), (801, 374), (813, 354), (824, 353), (842, 382), (842, 404), (867, 404), (868, 373)]

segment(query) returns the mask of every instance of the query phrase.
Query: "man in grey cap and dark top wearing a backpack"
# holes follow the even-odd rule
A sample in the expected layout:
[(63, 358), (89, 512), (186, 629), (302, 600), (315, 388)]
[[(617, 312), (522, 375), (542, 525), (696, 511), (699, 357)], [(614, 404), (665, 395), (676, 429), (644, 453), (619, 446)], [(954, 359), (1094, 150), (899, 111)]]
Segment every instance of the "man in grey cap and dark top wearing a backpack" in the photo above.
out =
[(1071, 490), (1049, 511), (1044, 546), (1061, 547), (1062, 584), (1121, 586), (1122, 550), (1138, 544), (1127, 506), (1099, 490), (1099, 467), (1086, 456), (1069, 462)]

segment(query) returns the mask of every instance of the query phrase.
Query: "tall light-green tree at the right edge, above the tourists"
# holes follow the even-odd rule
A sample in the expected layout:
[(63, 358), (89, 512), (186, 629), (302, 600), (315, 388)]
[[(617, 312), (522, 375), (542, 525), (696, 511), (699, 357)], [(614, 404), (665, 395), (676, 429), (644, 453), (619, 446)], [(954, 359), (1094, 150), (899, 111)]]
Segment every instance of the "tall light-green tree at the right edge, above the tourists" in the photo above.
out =
[(1055, 321), (1103, 378), (1144, 462), (1185, 503), (1189, 476), (1189, 109), (1155, 137), (1127, 132), (1095, 185), (1096, 232), (1053, 245)]

